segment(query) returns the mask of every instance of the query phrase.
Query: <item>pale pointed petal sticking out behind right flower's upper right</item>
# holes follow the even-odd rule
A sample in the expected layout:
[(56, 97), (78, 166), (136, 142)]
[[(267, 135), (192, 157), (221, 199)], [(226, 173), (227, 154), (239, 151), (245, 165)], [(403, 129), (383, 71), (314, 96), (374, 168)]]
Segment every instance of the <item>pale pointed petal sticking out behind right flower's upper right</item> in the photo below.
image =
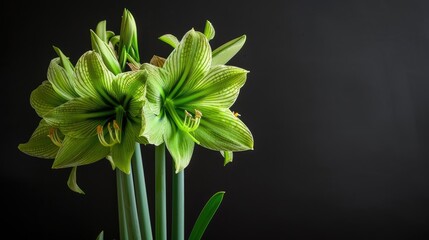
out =
[(235, 38), (222, 46), (216, 48), (212, 54), (212, 65), (223, 65), (226, 64), (235, 54), (240, 51), (246, 42), (246, 35)]

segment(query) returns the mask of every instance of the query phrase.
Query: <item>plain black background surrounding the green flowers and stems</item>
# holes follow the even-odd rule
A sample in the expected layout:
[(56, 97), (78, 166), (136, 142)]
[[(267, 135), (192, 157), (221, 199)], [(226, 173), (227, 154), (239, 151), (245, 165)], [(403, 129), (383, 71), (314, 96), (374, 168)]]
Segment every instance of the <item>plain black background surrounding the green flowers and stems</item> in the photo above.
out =
[[(186, 169), (187, 234), (205, 201), (225, 190), (205, 239), (429, 237), (427, 2), (24, 2), (2, 2), (2, 235), (118, 238), (107, 161), (79, 168), (82, 196), (67, 188), (69, 170), (51, 170), (51, 160), (17, 145), (37, 126), (29, 95), (46, 79), (51, 46), (76, 62), (90, 48), (89, 29), (106, 19), (119, 32), (127, 7), (143, 61), (171, 50), (157, 37), (201, 31), (206, 19), (214, 46), (248, 37), (230, 62), (250, 70), (232, 110), (255, 150), (223, 167), (219, 153), (196, 148)], [(143, 154), (153, 210), (153, 147)]]

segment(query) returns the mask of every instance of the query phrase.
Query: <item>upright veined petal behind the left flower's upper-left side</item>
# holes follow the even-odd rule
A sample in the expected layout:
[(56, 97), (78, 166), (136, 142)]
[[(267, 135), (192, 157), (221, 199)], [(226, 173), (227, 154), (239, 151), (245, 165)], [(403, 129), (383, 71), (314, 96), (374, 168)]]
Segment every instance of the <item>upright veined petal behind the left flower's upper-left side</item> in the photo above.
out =
[(69, 74), (65, 68), (61, 67), (61, 59), (54, 58), (49, 64), (48, 68), (48, 80), (52, 84), (54, 90), (61, 95), (64, 99), (72, 99), (78, 97), (74, 89), (74, 82), (76, 77), (73, 74)]

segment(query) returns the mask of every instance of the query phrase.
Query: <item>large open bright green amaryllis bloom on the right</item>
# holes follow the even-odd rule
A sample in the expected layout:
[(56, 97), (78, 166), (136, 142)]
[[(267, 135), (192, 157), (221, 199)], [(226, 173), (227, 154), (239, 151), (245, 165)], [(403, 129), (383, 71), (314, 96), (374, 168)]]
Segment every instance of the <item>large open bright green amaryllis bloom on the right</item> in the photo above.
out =
[(190, 30), (162, 67), (142, 69), (148, 72), (142, 135), (155, 145), (166, 143), (176, 172), (189, 164), (195, 143), (217, 151), (253, 149), (251, 132), (229, 110), (248, 71), (212, 66), (204, 34)]

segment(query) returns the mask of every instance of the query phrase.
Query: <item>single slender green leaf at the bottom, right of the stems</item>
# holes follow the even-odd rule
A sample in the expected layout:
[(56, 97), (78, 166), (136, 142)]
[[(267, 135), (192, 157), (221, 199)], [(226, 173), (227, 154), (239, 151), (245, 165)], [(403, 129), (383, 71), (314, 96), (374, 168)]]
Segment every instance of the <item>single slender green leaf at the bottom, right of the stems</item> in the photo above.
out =
[(217, 192), (207, 201), (197, 221), (195, 221), (194, 227), (189, 235), (189, 240), (200, 240), (202, 238), (207, 226), (222, 203), (224, 195), (225, 192), (223, 191)]

